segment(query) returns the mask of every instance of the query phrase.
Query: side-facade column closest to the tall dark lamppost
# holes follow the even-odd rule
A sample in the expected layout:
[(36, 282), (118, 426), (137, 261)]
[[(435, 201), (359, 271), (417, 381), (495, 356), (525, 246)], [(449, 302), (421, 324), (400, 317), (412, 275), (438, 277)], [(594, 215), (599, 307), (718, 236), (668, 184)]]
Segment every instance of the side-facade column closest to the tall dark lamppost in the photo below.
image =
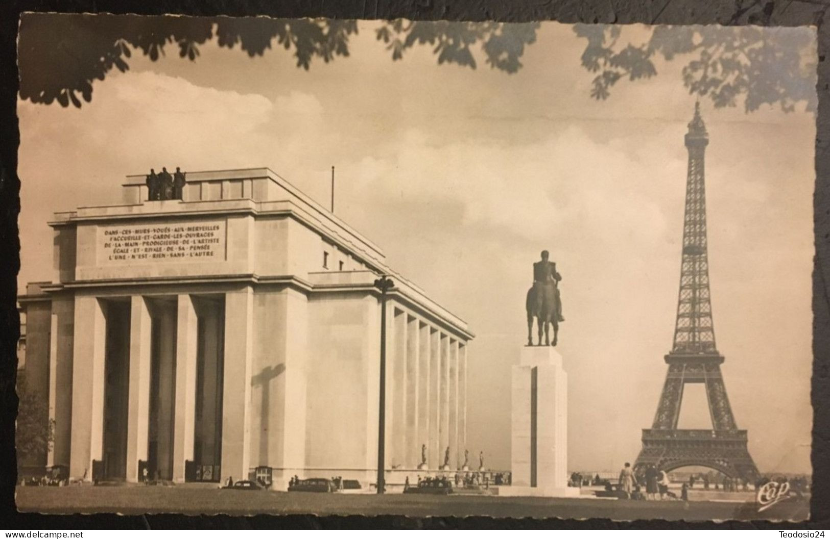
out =
[[(388, 464), (401, 466), (406, 464), (407, 438), (407, 313), (394, 309), (394, 346), (392, 357), (387, 362), (393, 364), (393, 413), (387, 425), (392, 430), (392, 454), (387, 459)], [(388, 312), (387, 312), (388, 315)]]

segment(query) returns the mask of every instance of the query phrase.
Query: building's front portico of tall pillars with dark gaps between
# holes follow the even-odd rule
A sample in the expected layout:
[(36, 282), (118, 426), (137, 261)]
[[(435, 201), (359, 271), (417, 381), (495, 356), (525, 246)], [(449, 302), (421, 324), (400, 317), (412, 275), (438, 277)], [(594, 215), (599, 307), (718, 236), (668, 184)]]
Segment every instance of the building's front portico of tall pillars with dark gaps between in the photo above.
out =
[(106, 476), (135, 482), (152, 460), (159, 478), (182, 482), (195, 460), (246, 478), (252, 304), (250, 287), (76, 296), (71, 477), (91, 479), (103, 461)]

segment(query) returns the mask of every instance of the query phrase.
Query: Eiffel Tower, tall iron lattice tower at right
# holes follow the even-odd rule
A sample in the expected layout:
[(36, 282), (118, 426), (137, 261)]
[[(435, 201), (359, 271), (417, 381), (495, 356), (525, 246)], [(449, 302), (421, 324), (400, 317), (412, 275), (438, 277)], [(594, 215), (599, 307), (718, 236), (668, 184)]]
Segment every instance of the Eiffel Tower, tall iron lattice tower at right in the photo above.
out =
[[(724, 357), (715, 347), (706, 255), (706, 186), (703, 170), (708, 143), (709, 135), (701, 119), (700, 104), (696, 104), (695, 117), (689, 123), (686, 134), (689, 172), (674, 346), (665, 357), (668, 371), (654, 423), (651, 429), (642, 430), (642, 449), (634, 463), (637, 475), (648, 464), (666, 472), (683, 466), (705, 466), (733, 478), (751, 479), (758, 474), (746, 447), (746, 430), (738, 430), (735, 425), (720, 373)], [(706, 386), (712, 430), (677, 428), (686, 384)]]

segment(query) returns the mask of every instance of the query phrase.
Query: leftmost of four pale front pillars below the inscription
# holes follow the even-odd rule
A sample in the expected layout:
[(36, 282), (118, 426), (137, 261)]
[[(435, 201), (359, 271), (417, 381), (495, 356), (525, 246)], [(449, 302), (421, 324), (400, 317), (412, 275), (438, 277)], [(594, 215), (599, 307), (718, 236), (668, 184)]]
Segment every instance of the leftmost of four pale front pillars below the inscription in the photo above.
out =
[(72, 352), (72, 478), (91, 480), (92, 461), (100, 460), (104, 451), (105, 326), (98, 299), (77, 296)]

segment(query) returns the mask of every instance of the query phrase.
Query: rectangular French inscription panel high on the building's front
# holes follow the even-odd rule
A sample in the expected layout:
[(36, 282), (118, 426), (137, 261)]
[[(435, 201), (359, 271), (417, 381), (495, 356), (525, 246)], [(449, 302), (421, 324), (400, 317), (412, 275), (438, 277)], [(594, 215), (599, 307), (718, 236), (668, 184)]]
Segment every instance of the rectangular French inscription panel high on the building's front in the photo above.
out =
[(111, 225), (98, 229), (99, 264), (225, 260), (226, 221)]

